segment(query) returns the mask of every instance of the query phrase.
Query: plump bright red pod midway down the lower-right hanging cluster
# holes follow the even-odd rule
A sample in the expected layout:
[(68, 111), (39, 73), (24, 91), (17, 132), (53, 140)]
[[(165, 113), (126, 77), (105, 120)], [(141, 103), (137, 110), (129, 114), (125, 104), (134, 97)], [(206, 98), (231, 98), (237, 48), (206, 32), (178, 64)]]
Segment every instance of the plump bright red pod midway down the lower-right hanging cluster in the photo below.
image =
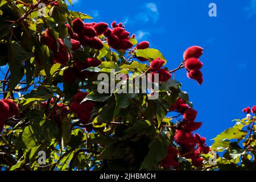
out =
[(193, 137), (192, 133), (185, 130), (176, 130), (174, 140), (178, 144), (194, 144), (197, 143), (197, 139)]

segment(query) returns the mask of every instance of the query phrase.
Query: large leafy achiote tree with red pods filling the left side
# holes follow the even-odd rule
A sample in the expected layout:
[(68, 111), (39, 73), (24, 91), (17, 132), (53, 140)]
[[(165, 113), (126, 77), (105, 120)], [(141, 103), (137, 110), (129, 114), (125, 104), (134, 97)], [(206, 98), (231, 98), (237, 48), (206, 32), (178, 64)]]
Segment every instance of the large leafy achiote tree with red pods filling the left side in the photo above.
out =
[[(170, 70), (122, 23), (85, 19), (64, 1), (1, 1), (1, 169), (204, 169), (210, 148), (193, 134), (202, 123), (174, 80), (187, 69), (202, 84), (203, 48), (189, 47)], [(125, 92), (137, 84), (139, 92)]]

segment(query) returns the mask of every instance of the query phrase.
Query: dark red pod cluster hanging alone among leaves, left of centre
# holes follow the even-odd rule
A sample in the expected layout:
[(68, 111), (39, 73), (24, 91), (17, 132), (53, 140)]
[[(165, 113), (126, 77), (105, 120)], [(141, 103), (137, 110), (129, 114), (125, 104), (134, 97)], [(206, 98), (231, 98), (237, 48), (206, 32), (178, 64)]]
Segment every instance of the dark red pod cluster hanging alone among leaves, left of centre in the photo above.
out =
[(82, 124), (88, 124), (90, 121), (90, 116), (94, 108), (94, 104), (91, 101), (85, 101), (84, 98), (87, 96), (87, 92), (79, 92), (76, 94), (73, 102), (69, 105), (69, 109), (77, 115), (81, 120)]

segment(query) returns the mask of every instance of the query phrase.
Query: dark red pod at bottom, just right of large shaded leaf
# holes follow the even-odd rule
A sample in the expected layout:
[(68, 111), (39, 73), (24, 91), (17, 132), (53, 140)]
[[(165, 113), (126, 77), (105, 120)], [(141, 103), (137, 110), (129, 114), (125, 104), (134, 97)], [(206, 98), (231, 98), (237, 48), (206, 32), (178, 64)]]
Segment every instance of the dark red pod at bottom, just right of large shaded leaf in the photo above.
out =
[(164, 168), (170, 168), (170, 167), (178, 167), (179, 163), (177, 162), (177, 149), (174, 147), (170, 147), (168, 146), (167, 148), (168, 154), (166, 156), (166, 158), (164, 158), (161, 162), (161, 165)]

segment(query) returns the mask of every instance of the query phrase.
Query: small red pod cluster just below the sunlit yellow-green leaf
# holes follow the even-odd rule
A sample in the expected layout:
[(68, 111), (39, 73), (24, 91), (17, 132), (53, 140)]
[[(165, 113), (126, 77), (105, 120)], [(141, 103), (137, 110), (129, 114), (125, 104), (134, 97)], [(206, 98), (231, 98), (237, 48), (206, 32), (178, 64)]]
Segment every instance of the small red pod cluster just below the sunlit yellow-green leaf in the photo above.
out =
[(160, 82), (164, 82), (164, 81), (168, 81), (172, 75), (166, 70), (161, 68), (164, 65), (165, 61), (161, 60), (160, 57), (158, 57), (157, 59), (155, 59), (154, 61), (152, 61), (150, 63), (150, 69), (152, 70), (152, 75), (150, 75), (150, 77), (148, 77), (148, 80), (152, 82), (155, 81), (154, 77), (155, 74), (158, 73), (159, 74), (159, 81)]

